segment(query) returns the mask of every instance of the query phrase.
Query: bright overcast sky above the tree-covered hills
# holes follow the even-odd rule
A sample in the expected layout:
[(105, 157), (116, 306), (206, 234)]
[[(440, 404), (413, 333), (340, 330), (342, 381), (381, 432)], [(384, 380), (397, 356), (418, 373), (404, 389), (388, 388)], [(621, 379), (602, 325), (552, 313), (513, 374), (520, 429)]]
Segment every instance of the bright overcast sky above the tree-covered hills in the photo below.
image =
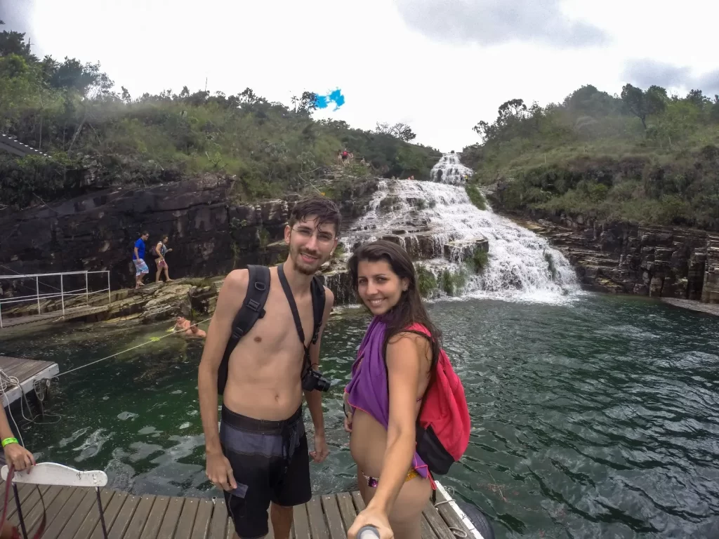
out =
[(38, 56), (100, 61), (132, 96), (247, 86), (290, 103), (341, 88), (317, 117), (403, 121), (445, 152), (511, 98), (583, 84), (719, 93), (719, 2), (653, 0), (0, 0)]

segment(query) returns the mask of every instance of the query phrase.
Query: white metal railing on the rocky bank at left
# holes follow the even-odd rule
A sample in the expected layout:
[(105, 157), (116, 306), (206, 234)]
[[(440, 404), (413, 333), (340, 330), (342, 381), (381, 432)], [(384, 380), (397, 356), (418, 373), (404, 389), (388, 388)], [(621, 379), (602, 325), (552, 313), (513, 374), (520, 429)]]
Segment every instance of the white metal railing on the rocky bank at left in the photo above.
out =
[[(101, 290), (93, 290), (90, 291), (90, 275), (94, 274), (106, 274), (107, 275), (107, 287), (102, 288)], [(77, 286), (78, 280), (82, 282), (82, 277), (85, 277), (85, 286), (80, 288), (75, 288), (74, 290), (65, 290), (65, 283), (67, 280), (70, 280), (71, 282), (74, 281), (74, 285)], [(60, 277), (60, 287), (55, 287), (52, 285), (48, 285), (47, 282), (41, 282), (40, 277), (45, 277), (45, 281), (49, 280), (48, 278), (53, 277)], [(24, 275), (24, 274), (16, 274), (16, 275), (0, 275), (0, 282), (6, 281), (6, 280), (35, 280), (35, 294), (29, 294), (29, 295), (22, 295), (22, 296), (15, 296), (13, 298), (2, 298), (0, 295), (0, 328), (3, 327), (3, 321), (2, 321), (2, 306), (12, 303), (22, 303), (22, 302), (37, 302), (37, 314), (42, 314), (42, 305), (40, 305), (40, 300), (46, 300), (51, 298), (60, 298), (60, 309), (63, 311), (63, 315), (65, 315), (65, 298), (75, 298), (77, 296), (85, 296), (85, 304), (90, 305), (90, 296), (101, 294), (103, 292), (107, 292), (107, 303), (108, 305), (112, 303), (112, 295), (110, 292), (110, 272), (108, 270), (104, 271), (96, 271), (96, 272), (61, 272), (61, 273), (34, 273), (32, 275)], [(104, 280), (103, 280), (104, 281)], [(40, 285), (43, 287), (52, 288), (55, 291), (54, 292), (43, 292), (40, 293)], [(27, 285), (21, 284), (20, 285), (23, 288), (32, 289), (32, 287), (29, 287)]]

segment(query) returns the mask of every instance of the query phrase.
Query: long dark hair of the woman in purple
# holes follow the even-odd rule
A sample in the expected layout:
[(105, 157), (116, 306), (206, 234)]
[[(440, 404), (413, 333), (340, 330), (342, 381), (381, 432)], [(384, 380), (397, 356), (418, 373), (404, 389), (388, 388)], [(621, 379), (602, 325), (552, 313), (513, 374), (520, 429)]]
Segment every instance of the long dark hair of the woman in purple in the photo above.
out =
[[(359, 293), (357, 292), (357, 267), (359, 266), (359, 262), (379, 262), (380, 260), (388, 262), (392, 271), (395, 272), (400, 279), (406, 279), (409, 282), (407, 291), (402, 292), (397, 305), (383, 315), (383, 321), (387, 324), (385, 342), (383, 344), (385, 357), (390, 338), (406, 331), (413, 323), (421, 323), (429, 330), (432, 336), (430, 339), (432, 346), (430, 372), (434, 372), (434, 367), (439, 358), (442, 334), (441, 331), (434, 326), (427, 314), (427, 310), (424, 308), (422, 296), (419, 293), (419, 287), (417, 285), (417, 274), (409, 254), (402, 247), (387, 240), (372, 241), (360, 246), (354, 254), (352, 254), (352, 257), (350, 257), (347, 263), (354, 292), (357, 293), (357, 298), (359, 298)], [(362, 300), (360, 299), (359, 301), (361, 302)], [(422, 333), (422, 336), (425, 335)]]

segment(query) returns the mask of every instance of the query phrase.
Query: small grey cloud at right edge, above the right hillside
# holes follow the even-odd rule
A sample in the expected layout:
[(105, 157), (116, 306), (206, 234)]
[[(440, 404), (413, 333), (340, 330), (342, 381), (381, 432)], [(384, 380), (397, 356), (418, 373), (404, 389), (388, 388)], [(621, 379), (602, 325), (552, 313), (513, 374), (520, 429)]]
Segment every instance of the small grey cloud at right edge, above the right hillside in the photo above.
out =
[(705, 95), (719, 93), (719, 70), (693, 75), (687, 66), (678, 66), (651, 58), (629, 60), (622, 77), (626, 82), (648, 88), (656, 84), (664, 88), (698, 88)]

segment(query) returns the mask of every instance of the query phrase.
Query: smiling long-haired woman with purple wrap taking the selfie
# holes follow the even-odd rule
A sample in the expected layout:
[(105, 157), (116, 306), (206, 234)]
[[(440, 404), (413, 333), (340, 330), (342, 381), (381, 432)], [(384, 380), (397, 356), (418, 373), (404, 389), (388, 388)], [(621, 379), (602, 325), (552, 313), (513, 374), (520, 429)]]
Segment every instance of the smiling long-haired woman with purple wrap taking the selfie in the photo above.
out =
[[(357, 296), (374, 315), (345, 388), (344, 428), (366, 509), (348, 530), (373, 525), (381, 539), (417, 539), (434, 487), (415, 452), (415, 423), (441, 346), (407, 252), (390, 241), (362, 245), (349, 259)], [(429, 339), (415, 333), (421, 325)], [(386, 366), (386, 367), (385, 367)]]

